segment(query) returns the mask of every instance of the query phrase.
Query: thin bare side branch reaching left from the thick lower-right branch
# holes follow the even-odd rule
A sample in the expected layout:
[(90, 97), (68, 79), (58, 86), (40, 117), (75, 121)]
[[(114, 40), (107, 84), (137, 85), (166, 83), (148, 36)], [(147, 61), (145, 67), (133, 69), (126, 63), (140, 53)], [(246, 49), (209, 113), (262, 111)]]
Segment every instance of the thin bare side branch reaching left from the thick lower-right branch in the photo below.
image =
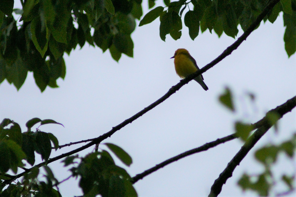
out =
[(163, 168), (163, 167), (165, 167), (166, 165), (168, 165), (170, 163), (176, 162), (179, 159), (182, 159), (184, 157), (187, 157), (189, 155), (192, 155), (192, 154), (195, 154), (195, 153), (198, 153), (198, 152), (206, 151), (207, 149), (213, 148), (215, 146), (218, 146), (219, 144), (222, 144), (222, 143), (224, 143), (226, 141), (233, 140), (235, 138), (237, 138), (235, 136), (235, 134), (231, 134), (229, 136), (225, 136), (223, 138), (216, 139), (215, 141), (211, 141), (211, 142), (205, 143), (204, 145), (202, 145), (200, 147), (197, 147), (197, 148), (191, 149), (189, 151), (186, 151), (184, 153), (178, 154), (175, 157), (172, 157), (170, 159), (167, 159), (164, 162), (161, 162), (161, 163), (155, 165), (154, 167), (152, 167), (152, 168), (150, 168), (148, 170), (145, 170), (144, 172), (142, 172), (140, 174), (137, 174), (136, 176), (134, 176), (132, 178), (133, 179), (132, 183), (136, 183), (138, 180), (143, 179), (145, 176), (151, 174), (152, 172), (155, 172), (158, 169)]

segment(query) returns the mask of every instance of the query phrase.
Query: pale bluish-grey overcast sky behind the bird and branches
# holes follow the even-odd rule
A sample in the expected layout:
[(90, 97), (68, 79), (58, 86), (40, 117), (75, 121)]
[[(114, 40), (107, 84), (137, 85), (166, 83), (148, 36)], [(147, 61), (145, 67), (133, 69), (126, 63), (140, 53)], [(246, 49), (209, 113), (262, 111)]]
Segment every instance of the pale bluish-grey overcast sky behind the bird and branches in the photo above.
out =
[[(16, 1), (15, 7), (20, 7), (18, 4)], [(146, 14), (145, 2), (143, 8)], [(44, 125), (39, 129), (57, 136), (59, 144), (95, 138), (147, 107), (179, 82), (170, 59), (176, 49), (189, 50), (201, 68), (235, 41), (224, 33), (218, 38), (208, 30), (192, 41), (183, 24), (181, 39), (175, 41), (167, 35), (163, 42), (159, 37), (159, 24), (156, 19), (136, 27), (132, 34), (134, 58), (122, 55), (119, 63), (109, 51), (102, 53), (100, 48), (88, 44), (81, 50), (77, 46), (70, 56), (64, 55), (67, 73), (64, 81), (57, 81), (57, 89), (47, 87), (41, 93), (32, 73), (28, 73), (19, 91), (5, 80), (0, 85), (0, 119), (14, 120), (23, 132), (31, 118), (53, 119), (65, 128)], [(124, 167), (119, 160), (116, 164), (134, 176), (165, 159), (233, 133), (236, 120), (254, 123), (268, 110), (295, 96), (296, 58), (294, 54), (288, 59), (284, 50), (284, 30), (282, 16), (274, 24), (261, 23), (236, 51), (203, 74), (208, 91), (195, 81), (189, 82), (155, 109), (104, 140), (122, 147), (133, 158), (131, 167)], [(238, 36), (242, 33), (239, 27)], [(234, 93), (236, 113), (218, 102), (225, 86)], [(247, 92), (255, 94), (255, 103), (250, 102)], [(279, 121), (279, 133), (270, 129), (254, 150), (290, 138), (296, 131), (295, 120), (294, 109)], [(51, 157), (81, 145), (52, 152)], [(134, 185), (136, 191), (141, 197), (207, 196), (214, 180), (242, 145), (236, 139), (174, 162), (139, 180)], [(107, 149), (104, 145), (99, 147)], [(90, 147), (79, 154), (85, 155), (93, 149)], [(235, 169), (220, 196), (256, 196), (253, 192), (243, 193), (237, 186), (244, 172), (257, 174), (264, 169), (255, 162), (253, 153), (251, 151)], [(38, 162), (40, 160), (36, 164)], [(49, 166), (58, 180), (70, 175), (60, 161)], [(295, 168), (296, 162), (281, 154), (274, 170), (276, 177), (280, 177), (282, 172), (295, 172)], [(74, 179), (59, 188), (64, 197), (82, 194)], [(284, 185), (278, 185), (274, 191), (285, 189)], [(295, 193), (290, 196), (293, 195)]]

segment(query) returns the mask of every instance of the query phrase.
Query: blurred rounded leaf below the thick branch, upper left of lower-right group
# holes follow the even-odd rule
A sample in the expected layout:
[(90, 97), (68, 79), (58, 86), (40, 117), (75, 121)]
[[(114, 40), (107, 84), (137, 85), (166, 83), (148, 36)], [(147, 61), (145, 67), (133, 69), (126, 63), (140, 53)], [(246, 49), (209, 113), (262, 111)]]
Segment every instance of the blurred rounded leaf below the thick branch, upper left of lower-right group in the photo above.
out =
[(263, 164), (274, 163), (276, 162), (278, 152), (279, 149), (274, 145), (265, 146), (255, 152), (255, 158)]

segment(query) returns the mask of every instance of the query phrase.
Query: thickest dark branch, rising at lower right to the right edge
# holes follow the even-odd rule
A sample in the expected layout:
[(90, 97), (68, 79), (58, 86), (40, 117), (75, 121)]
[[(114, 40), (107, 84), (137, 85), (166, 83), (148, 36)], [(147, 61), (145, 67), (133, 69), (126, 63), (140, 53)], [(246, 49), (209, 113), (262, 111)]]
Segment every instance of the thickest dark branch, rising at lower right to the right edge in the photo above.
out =
[[(284, 114), (290, 112), (296, 106), (296, 96), (287, 100), (282, 105), (277, 106), (276, 108), (270, 110), (270, 112), (276, 112), (279, 114), (279, 119), (283, 117)], [(253, 146), (259, 141), (259, 139), (272, 127), (272, 125), (266, 121), (267, 117), (265, 116), (261, 119), (260, 123), (264, 122), (245, 142), (242, 148), (237, 152), (237, 154), (231, 159), (227, 167), (221, 172), (219, 177), (215, 180), (214, 184), (211, 187), (209, 197), (216, 197), (221, 193), (223, 184), (226, 183), (227, 179), (232, 176), (232, 172), (239, 165), (239, 163), (244, 159), (248, 152), (253, 148)], [(255, 124), (258, 124), (255, 123)], [(254, 125), (255, 125), (254, 124)]]

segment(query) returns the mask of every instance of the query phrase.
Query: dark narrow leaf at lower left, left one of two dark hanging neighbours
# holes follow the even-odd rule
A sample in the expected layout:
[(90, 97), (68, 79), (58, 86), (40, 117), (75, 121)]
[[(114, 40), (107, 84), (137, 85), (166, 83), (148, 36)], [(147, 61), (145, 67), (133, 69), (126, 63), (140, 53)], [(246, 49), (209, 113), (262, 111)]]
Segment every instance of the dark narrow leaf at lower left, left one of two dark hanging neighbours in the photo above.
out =
[(33, 166), (35, 163), (35, 140), (32, 136), (33, 132), (22, 133), (22, 151), (25, 152), (27, 162)]

